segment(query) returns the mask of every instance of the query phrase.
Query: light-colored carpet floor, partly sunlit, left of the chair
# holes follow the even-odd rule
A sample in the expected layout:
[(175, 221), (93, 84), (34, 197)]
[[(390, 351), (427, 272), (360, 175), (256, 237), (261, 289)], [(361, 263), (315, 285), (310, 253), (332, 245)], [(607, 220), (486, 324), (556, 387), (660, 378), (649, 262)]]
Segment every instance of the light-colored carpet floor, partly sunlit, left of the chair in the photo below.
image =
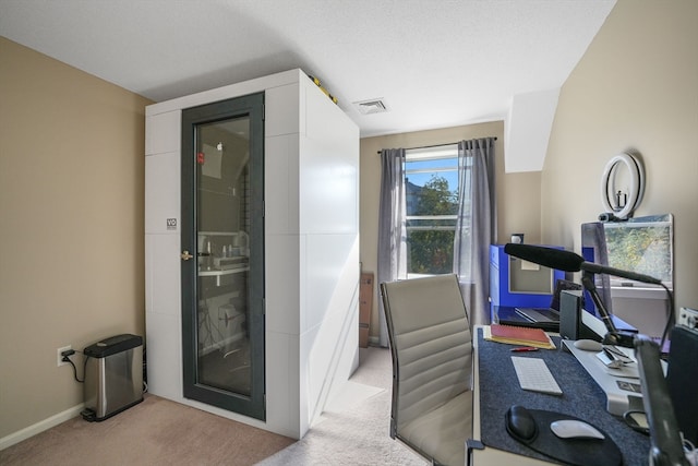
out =
[(424, 466), (388, 434), (389, 351), (361, 349), (360, 358), (347, 391), (300, 441), (146, 394), (105, 421), (74, 418), (10, 446), (0, 452), (0, 464)]

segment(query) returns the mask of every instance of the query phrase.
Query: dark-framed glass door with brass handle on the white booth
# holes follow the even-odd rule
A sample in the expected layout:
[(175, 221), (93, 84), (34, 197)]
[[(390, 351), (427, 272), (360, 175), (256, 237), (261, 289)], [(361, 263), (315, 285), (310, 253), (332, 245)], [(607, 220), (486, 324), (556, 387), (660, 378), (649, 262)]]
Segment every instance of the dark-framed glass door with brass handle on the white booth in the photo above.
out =
[(265, 419), (264, 94), (182, 111), (184, 397)]

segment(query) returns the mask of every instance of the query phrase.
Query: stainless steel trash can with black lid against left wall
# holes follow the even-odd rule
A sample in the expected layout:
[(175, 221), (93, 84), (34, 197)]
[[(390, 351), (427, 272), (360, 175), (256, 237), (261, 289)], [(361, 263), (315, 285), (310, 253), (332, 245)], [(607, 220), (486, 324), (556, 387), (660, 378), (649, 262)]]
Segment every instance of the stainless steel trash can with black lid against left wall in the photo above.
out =
[(83, 418), (105, 420), (143, 401), (143, 338), (116, 335), (84, 349)]

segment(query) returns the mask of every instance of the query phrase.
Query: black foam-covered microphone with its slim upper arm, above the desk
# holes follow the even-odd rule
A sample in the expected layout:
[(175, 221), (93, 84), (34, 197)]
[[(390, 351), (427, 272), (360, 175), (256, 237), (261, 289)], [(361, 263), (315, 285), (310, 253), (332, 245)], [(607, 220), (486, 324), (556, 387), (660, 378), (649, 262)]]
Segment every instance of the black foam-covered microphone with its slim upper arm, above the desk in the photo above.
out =
[(504, 247), (504, 252), (515, 258), (519, 258), (525, 261), (558, 271), (585, 271), (592, 274), (614, 275), (616, 277), (627, 278), (641, 283), (650, 283), (654, 285), (662, 284), (662, 280), (649, 275), (610, 267), (607, 265), (594, 264), (593, 262), (587, 262), (585, 261), (585, 258), (570, 251), (545, 248), (543, 246), (508, 243)]

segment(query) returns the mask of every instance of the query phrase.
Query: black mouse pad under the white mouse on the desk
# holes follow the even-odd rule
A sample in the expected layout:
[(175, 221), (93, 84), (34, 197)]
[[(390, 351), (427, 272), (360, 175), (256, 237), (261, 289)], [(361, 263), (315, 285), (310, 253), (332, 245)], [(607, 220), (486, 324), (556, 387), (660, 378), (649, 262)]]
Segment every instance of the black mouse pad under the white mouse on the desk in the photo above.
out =
[[(550, 429), (551, 422), (563, 419), (573, 419), (587, 422), (583, 419), (574, 416), (563, 415), (561, 413), (545, 411), (541, 409), (528, 410), (535, 426), (538, 427), (538, 435), (532, 441), (519, 442), (535, 450), (538, 453), (558, 459), (565, 464), (576, 466), (618, 466), (623, 464), (623, 454), (615, 442), (606, 432), (597, 428), (605, 439), (561, 439)], [(505, 419), (506, 422), (506, 419)], [(590, 423), (590, 422), (587, 422)]]

